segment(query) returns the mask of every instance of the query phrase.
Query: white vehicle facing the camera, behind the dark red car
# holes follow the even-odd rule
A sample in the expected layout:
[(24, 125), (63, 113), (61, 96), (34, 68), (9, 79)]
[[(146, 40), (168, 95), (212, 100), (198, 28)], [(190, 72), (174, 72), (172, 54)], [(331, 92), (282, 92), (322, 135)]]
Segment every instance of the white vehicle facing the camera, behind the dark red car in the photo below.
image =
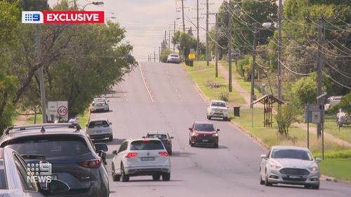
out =
[(224, 121), (229, 120), (228, 118), (228, 107), (223, 100), (211, 100), (207, 105), (207, 119), (211, 118), (223, 118)]

